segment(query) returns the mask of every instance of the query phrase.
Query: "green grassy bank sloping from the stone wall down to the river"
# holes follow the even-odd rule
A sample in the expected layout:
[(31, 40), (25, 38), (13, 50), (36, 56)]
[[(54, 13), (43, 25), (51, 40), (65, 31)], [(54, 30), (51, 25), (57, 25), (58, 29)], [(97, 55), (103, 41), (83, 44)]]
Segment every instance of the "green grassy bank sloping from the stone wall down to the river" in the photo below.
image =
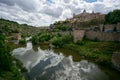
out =
[(120, 51), (120, 42), (81, 41), (79, 44), (66, 44), (64, 48), (73, 50), (101, 65), (107, 65), (111, 64), (113, 52)]

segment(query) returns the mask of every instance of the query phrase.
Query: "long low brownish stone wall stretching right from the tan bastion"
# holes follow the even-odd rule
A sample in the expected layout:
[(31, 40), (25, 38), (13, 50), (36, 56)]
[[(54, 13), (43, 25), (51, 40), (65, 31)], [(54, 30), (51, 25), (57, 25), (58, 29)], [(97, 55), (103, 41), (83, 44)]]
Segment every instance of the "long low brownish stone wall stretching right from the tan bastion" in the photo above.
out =
[(98, 39), (100, 41), (120, 41), (120, 33), (117, 32), (86, 31), (85, 36), (88, 39)]

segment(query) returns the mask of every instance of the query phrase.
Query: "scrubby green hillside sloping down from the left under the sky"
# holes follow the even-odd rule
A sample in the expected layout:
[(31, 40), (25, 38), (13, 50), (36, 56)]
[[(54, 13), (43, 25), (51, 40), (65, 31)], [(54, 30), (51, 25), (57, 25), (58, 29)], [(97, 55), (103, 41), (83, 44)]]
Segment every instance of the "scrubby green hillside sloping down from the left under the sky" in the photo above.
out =
[(23, 37), (34, 35), (40, 31), (40, 28), (30, 26), (27, 24), (19, 24), (14, 21), (9, 21), (5, 19), (0, 19), (0, 33), (7, 36), (12, 35), (12, 33), (21, 33)]

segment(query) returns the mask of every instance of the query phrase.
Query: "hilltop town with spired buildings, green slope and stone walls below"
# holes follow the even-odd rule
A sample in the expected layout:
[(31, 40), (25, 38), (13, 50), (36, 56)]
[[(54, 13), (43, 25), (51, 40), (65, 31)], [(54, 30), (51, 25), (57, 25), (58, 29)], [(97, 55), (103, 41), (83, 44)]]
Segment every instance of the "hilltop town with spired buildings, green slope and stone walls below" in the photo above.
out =
[(72, 34), (74, 42), (82, 40), (84, 36), (88, 39), (97, 39), (100, 41), (120, 41), (120, 23), (105, 24), (105, 14), (82, 13), (75, 15), (73, 18), (65, 21), (58, 21), (50, 26), (51, 31), (57, 31), (60, 27), (66, 28), (61, 30), (60, 34)]

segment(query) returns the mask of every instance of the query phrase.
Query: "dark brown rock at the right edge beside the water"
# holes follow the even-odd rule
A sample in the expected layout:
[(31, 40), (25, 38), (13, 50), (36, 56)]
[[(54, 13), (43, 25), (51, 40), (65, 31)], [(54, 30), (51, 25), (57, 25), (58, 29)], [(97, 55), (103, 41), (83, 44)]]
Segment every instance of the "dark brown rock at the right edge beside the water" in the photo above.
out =
[(112, 64), (115, 69), (120, 71), (120, 52), (114, 52), (112, 55)]

